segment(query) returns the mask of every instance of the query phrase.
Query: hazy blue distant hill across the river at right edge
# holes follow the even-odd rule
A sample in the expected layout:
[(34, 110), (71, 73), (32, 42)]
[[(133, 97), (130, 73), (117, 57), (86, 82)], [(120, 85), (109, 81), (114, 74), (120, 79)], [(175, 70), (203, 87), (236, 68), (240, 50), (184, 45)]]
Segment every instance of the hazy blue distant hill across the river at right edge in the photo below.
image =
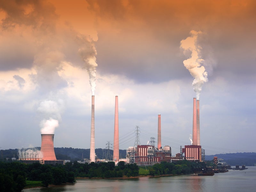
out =
[(216, 154), (216, 155), (206, 155), (205, 160), (212, 160), (213, 157), (218, 157), (218, 159), (223, 159), (231, 166), (235, 165), (246, 165), (246, 166), (256, 166), (256, 153), (226, 153), (226, 154)]

